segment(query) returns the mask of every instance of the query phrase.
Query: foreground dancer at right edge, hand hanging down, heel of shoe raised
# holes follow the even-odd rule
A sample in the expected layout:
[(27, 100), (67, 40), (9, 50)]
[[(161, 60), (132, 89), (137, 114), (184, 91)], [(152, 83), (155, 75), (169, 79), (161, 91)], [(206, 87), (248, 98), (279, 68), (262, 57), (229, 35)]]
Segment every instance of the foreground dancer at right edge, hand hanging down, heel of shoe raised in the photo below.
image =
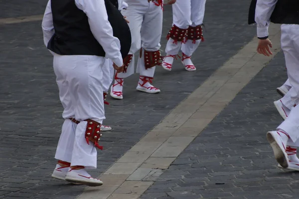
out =
[[(291, 98), (297, 104), (299, 100), (299, 1), (257, 0), (255, 21), (259, 38), (257, 51), (266, 56), (272, 54), (270, 50), (272, 43), (268, 38), (270, 21), (282, 24), (281, 45), (285, 54), (288, 77), (294, 88)], [(267, 132), (267, 139), (282, 168), (294, 169), (295, 165), (299, 165), (297, 156), (294, 158), (288, 156), (290, 147), (291, 151), (295, 151), (292, 148), (297, 148), (299, 142), (299, 106), (292, 108), (286, 120), (277, 127), (276, 131)]]

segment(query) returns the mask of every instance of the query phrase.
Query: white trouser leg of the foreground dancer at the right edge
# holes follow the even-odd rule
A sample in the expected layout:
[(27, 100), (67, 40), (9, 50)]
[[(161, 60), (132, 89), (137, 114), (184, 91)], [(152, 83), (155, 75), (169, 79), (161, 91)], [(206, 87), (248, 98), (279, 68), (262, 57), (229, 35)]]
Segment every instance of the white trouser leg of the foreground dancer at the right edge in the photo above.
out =
[[(288, 77), (292, 88), (294, 88), (292, 99), (298, 104), (299, 96), (299, 25), (283, 24), (281, 44), (285, 54)], [(278, 127), (289, 134), (292, 141), (299, 138), (299, 105), (292, 108), (290, 115)], [(289, 143), (288, 143), (289, 144)]]

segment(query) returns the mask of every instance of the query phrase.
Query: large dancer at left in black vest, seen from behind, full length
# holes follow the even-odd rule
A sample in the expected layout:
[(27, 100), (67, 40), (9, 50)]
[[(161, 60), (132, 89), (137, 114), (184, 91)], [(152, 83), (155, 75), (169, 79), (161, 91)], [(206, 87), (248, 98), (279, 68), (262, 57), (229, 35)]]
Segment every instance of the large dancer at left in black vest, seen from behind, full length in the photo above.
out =
[(124, 45), (121, 49), (124, 42), (113, 36), (112, 24), (122, 32), (124, 42), (131, 44), (127, 22), (110, 1), (48, 1), (42, 21), (44, 43), (54, 56), (65, 119), (55, 154), (58, 163), (52, 177), (56, 179), (88, 186), (103, 184), (85, 170), (97, 168), (96, 147), (102, 149), (98, 144), (105, 119), (102, 69), (106, 56), (122, 72), (122, 55), (130, 48)]

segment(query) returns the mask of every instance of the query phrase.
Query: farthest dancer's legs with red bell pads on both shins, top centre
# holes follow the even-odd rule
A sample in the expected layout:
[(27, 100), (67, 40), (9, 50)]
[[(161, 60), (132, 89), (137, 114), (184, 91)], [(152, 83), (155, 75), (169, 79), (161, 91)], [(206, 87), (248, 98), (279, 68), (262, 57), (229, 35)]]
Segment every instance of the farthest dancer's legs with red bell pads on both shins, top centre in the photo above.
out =
[(206, 0), (177, 0), (172, 5), (173, 25), (167, 35), (167, 53), (162, 67), (171, 71), (174, 59), (182, 51), (182, 63), (187, 71), (196, 71), (191, 56), (203, 41), (202, 23)]

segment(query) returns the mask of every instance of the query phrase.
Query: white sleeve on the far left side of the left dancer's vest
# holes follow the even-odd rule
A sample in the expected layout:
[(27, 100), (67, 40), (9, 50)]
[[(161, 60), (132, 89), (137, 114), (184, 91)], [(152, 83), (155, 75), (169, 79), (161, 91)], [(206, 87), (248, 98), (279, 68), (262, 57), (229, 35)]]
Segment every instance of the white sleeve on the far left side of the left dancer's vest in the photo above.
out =
[(43, 32), (44, 44), (46, 46), (48, 46), (48, 43), (54, 34), (53, 17), (52, 17), (52, 10), (51, 10), (51, 0), (49, 0), (47, 3), (46, 10), (45, 10), (45, 13), (44, 13), (44, 16), (42, 19), (42, 23), (41, 23), (41, 28), (42, 28), (42, 32)]

